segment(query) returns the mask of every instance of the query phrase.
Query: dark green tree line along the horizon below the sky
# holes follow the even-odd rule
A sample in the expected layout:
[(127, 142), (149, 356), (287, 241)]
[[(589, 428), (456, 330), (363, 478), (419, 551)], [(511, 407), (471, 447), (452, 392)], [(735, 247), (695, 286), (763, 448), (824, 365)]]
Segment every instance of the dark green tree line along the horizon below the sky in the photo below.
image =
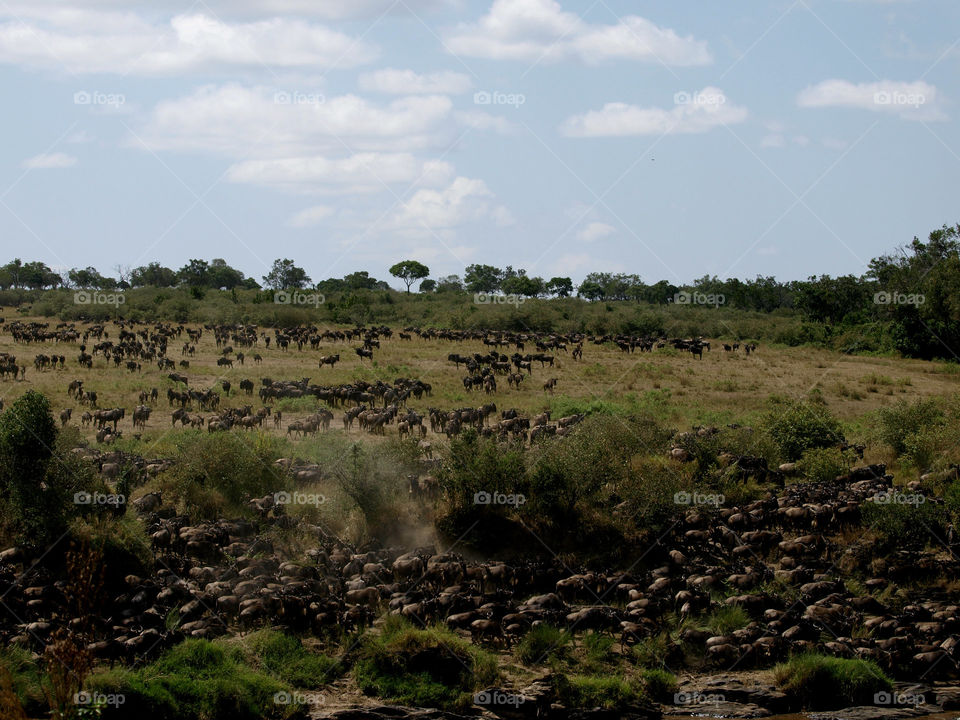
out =
[[(430, 269), (417, 260), (403, 260), (389, 272), (406, 285), (419, 282), (420, 295), (464, 293), (513, 294), (524, 298), (567, 298), (591, 302), (630, 302), (667, 305), (675, 302), (710, 303), (756, 312), (798, 314), (804, 320), (832, 326), (883, 325), (889, 346), (915, 357), (960, 360), (960, 224), (943, 225), (927, 240), (913, 241), (895, 252), (870, 261), (861, 276), (812, 276), (781, 282), (772, 276), (741, 280), (705, 275), (685, 285), (667, 280), (646, 283), (637, 274), (592, 272), (575, 285), (569, 277), (530, 276), (512, 266), (472, 264), (463, 275), (430, 278)], [(150, 263), (116, 277), (95, 268), (74, 268), (58, 274), (42, 262), (15, 259), (0, 267), (0, 290), (83, 288), (189, 288), (202, 297), (206, 289), (260, 290), (316, 289), (325, 295), (362, 291), (390, 291), (383, 280), (367, 271), (314, 283), (290, 259), (277, 259), (262, 284), (231, 267), (225, 260), (191, 259), (179, 270)]]

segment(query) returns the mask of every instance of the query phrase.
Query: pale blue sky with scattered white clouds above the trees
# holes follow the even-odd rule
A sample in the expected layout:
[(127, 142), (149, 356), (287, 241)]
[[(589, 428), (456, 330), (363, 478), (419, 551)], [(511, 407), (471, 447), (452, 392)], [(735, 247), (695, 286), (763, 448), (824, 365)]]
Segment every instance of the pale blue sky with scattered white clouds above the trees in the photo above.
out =
[(958, 70), (956, 0), (3, 0), (0, 261), (861, 274)]

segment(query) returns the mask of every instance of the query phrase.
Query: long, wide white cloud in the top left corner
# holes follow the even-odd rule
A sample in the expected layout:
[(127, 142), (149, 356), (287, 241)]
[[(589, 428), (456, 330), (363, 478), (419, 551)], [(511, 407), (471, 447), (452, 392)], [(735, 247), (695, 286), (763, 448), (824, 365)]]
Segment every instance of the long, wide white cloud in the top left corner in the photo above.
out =
[(377, 55), (358, 38), (297, 19), (231, 23), (190, 13), (155, 22), (130, 12), (66, 8), (38, 14), (0, 22), (0, 63), (73, 74), (175, 75), (241, 66), (350, 68)]

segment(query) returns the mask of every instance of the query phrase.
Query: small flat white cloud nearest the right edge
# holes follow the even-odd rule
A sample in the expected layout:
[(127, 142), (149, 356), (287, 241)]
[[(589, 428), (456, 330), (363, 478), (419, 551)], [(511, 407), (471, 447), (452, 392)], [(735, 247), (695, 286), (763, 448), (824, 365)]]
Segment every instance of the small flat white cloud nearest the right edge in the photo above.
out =
[(856, 108), (923, 120), (946, 119), (938, 105), (937, 88), (922, 80), (856, 84), (847, 80), (823, 80), (801, 90), (797, 105), (805, 108)]

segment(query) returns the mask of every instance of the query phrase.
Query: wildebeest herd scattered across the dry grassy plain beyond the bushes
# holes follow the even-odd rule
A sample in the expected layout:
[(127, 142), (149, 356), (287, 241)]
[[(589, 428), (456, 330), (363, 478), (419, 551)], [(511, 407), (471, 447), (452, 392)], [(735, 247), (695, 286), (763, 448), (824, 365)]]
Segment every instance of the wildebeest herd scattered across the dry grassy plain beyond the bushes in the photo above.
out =
[[(362, 365), (365, 359), (372, 360), (375, 357), (382, 342), (393, 341), (394, 332), (386, 326), (346, 330), (300, 326), (268, 331), (253, 325), (191, 327), (183, 324), (118, 320), (114, 326), (105, 323), (60, 323), (51, 328), (49, 323), (18, 320), (3, 327), (16, 344), (25, 348), (43, 343), (53, 343), (57, 348), (66, 345), (77, 347), (75, 364), (67, 355), (44, 352), (35, 355), (34, 368), (37, 373), (43, 374), (51, 371), (80, 371), (66, 387), (67, 397), (74, 401), (77, 407), (64, 408), (60, 413), (60, 420), (64, 425), (71, 422), (76, 410), (81, 427), (91, 428), (96, 433), (97, 441), (102, 443), (110, 443), (122, 437), (120, 421), (128, 417), (134, 433), (142, 433), (151, 425), (157, 428), (166, 426), (164, 421), (159, 419), (164, 410), (170, 413), (172, 426), (180, 423), (193, 428), (205, 427), (209, 432), (232, 429), (266, 431), (272, 427), (278, 431), (285, 430), (286, 435), (291, 438), (303, 438), (313, 436), (319, 431), (327, 431), (335, 420), (335, 411), (342, 411), (343, 414), (341, 422), (334, 426), (342, 427), (345, 431), (356, 427), (373, 435), (383, 435), (387, 428), (396, 427), (400, 436), (417, 434), (421, 439), (427, 432), (424, 418), (430, 419), (430, 430), (445, 433), (447, 436), (457, 434), (463, 427), (474, 426), (483, 434), (524, 440), (535, 440), (544, 435), (563, 435), (570, 425), (569, 418), (565, 419), (564, 424), (551, 423), (549, 418), (547, 422), (531, 423), (531, 418), (518, 417), (518, 411), (512, 411), (509, 416), (507, 411), (504, 411), (499, 422), (491, 423), (492, 412), (496, 410), (496, 405), (492, 402), (483, 403), (479, 407), (413, 408), (411, 403), (419, 405), (432, 394), (432, 385), (425, 379), (397, 378), (392, 383), (382, 380), (355, 380), (329, 385), (311, 383), (310, 377), (274, 380), (261, 376), (242, 377), (231, 381), (226, 376), (220, 376), (212, 382), (208, 380), (207, 386), (203, 387), (197, 376), (191, 377), (188, 374), (191, 365), (186, 358), (189, 357), (196, 363), (200, 357), (198, 344), (205, 336), (212, 335), (216, 357), (216, 369), (212, 372), (233, 374), (244, 367), (248, 354), (252, 354), (255, 365), (260, 365), (263, 357), (260, 352), (254, 351), (259, 348), (266, 351), (272, 346), (281, 353), (287, 353), (292, 348), (299, 353), (305, 350), (317, 352), (316, 359), (304, 360), (304, 367), (316, 363), (322, 376), (324, 367), (332, 368), (340, 362), (340, 352), (327, 353), (324, 351), (325, 345), (360, 343), (354, 350), (358, 362)], [(415, 337), (444, 340), (457, 346), (480, 343), (489, 348), (483, 353), (451, 352), (447, 355), (447, 361), (453, 363), (456, 369), (463, 366), (467, 372), (461, 378), (463, 390), (481, 390), (487, 396), (502, 394), (504, 380), (506, 390), (521, 391), (527, 387), (526, 383), (535, 370), (544, 371), (557, 367), (559, 354), (563, 354), (564, 358), (569, 355), (573, 362), (582, 360), (585, 343), (612, 343), (627, 353), (634, 350), (652, 352), (658, 348), (672, 347), (689, 351), (695, 357), (702, 357), (704, 348), (708, 351), (710, 349), (710, 343), (702, 338), (456, 331), (417, 327), (407, 327), (398, 333), (400, 342), (409, 342)], [(175, 352), (174, 346), (181, 341), (179, 350), (183, 359), (179, 361), (180, 370), (177, 371), (177, 363), (170, 354)], [(536, 352), (522, 352), (527, 346), (533, 346)], [(514, 352), (507, 355), (499, 352), (500, 348), (513, 348)], [(745, 349), (749, 353), (751, 349), (755, 350), (756, 346), (746, 345)], [(122, 404), (107, 409), (99, 408), (97, 401), (103, 390), (91, 388), (91, 382), (82, 374), (84, 370), (92, 370), (95, 364), (105, 371), (110, 368), (114, 371), (127, 370), (135, 374), (138, 381), (152, 378), (154, 382), (160, 383), (160, 387), (143, 384), (135, 392), (131, 391), (129, 413)], [(154, 366), (159, 372), (151, 374)], [(0, 377), (9, 375), (23, 380), (26, 369), (26, 364), (19, 363), (16, 356), (0, 354)], [(544, 396), (554, 393), (558, 387), (563, 387), (560, 378), (553, 375), (545, 377), (541, 385)], [(234, 387), (246, 396), (256, 392), (261, 406), (255, 408), (248, 403), (227, 406), (227, 402), (233, 397)], [(160, 402), (161, 397), (167, 400), (165, 409)], [(288, 411), (286, 425), (283, 425), (283, 411), (274, 412), (278, 400), (311, 397), (316, 399), (316, 410), (307, 413), (305, 417), (290, 417), (291, 413)], [(272, 422), (265, 423), (267, 417), (272, 417)]]

